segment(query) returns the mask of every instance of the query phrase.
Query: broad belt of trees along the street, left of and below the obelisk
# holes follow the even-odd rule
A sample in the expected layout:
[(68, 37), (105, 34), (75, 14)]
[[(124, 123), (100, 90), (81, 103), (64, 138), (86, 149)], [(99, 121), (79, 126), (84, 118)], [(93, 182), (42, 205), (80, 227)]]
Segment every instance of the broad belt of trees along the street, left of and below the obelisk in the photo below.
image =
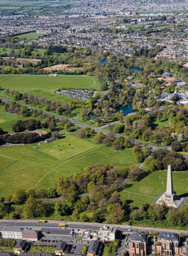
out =
[[(19, 189), (13, 195), (1, 197), (0, 217), (66, 220), (67, 216), (72, 216), (74, 220), (81, 222), (186, 226), (187, 208), (169, 209), (165, 203), (146, 203), (138, 208), (134, 207), (130, 200), (122, 201), (120, 191), (127, 186), (124, 179), (137, 177), (138, 172), (142, 170), (137, 168), (136, 172), (133, 175), (129, 168), (114, 168), (108, 165), (85, 167), (82, 172), (76, 172), (71, 177), (59, 177), (48, 189)], [(64, 199), (56, 202), (42, 200), (54, 197)]]

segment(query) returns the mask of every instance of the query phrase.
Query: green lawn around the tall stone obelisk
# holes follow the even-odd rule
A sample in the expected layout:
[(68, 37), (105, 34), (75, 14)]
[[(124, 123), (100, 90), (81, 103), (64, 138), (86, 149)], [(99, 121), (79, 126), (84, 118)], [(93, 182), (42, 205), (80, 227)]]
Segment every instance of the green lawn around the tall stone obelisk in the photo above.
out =
[[(188, 171), (173, 172), (173, 183), (177, 195), (187, 193)], [(124, 191), (121, 192), (121, 199), (122, 201), (132, 200), (134, 206), (139, 206), (141, 203), (151, 203), (155, 197), (166, 190), (167, 171), (157, 171), (152, 172), (140, 182), (128, 182)]]

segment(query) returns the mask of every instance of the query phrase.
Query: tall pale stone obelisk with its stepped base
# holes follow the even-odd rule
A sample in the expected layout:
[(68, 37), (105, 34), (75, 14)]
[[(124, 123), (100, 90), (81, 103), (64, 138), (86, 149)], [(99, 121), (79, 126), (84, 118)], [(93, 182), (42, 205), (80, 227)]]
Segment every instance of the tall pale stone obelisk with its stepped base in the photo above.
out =
[(157, 197), (153, 203), (166, 203), (169, 207), (180, 207), (181, 203), (183, 203), (183, 197), (177, 196), (173, 188), (173, 172), (171, 165), (168, 166), (167, 170), (167, 191), (161, 193), (160, 196)]

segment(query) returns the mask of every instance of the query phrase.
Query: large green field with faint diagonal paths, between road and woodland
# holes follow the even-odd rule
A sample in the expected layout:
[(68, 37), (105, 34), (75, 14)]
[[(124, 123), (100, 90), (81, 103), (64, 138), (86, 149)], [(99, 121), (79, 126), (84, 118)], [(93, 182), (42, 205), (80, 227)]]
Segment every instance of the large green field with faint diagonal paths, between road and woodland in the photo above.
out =
[[(17, 159), (0, 171), (0, 196), (14, 193), (19, 188), (50, 187), (57, 177), (68, 177), (85, 166), (138, 164), (132, 149), (118, 152), (71, 134), (49, 144), (0, 147), (0, 155)], [(3, 159), (1, 162), (6, 164)]]

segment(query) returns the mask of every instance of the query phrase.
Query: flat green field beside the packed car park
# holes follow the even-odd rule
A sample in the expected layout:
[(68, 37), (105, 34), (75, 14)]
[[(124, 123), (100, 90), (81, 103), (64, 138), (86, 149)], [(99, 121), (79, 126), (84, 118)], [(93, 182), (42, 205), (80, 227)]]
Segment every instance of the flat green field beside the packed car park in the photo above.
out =
[[(99, 80), (96, 77), (81, 75), (61, 75), (57, 77), (46, 77), (45, 75), (7, 76), (0, 77), (0, 84), (3, 89), (27, 92), (37, 97), (44, 96), (48, 100), (68, 102), (73, 99), (68, 96), (55, 94), (59, 88), (89, 88), (98, 89)], [(1, 91), (3, 93), (3, 91)]]

